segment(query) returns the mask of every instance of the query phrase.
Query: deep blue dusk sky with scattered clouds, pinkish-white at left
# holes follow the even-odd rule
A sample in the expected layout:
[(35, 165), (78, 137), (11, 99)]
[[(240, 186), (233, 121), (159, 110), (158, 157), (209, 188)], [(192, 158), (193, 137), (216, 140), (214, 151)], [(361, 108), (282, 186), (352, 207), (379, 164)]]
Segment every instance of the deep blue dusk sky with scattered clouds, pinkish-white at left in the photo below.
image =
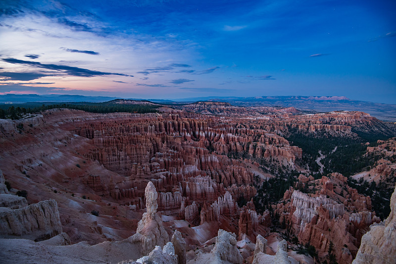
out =
[(396, 104), (395, 0), (1, 0), (0, 95)]

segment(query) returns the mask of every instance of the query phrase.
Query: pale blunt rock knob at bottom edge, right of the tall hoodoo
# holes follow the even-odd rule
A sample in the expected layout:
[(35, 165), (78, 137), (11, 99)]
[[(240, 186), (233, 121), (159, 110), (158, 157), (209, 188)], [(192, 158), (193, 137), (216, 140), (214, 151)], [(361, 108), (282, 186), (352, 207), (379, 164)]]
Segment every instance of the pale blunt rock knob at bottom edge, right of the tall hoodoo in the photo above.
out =
[(237, 248), (237, 236), (219, 229), (216, 237), (216, 244), (211, 254), (217, 259), (228, 261), (234, 264), (242, 264), (243, 258)]

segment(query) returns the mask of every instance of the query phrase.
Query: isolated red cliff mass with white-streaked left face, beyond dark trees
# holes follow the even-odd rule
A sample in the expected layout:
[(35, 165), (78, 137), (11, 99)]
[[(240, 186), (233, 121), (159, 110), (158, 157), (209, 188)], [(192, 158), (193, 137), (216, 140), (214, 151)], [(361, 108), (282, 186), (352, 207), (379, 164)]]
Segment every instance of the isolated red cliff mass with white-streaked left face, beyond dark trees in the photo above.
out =
[(300, 243), (309, 242), (319, 253), (326, 254), (332, 241), (337, 261), (351, 263), (363, 234), (371, 224), (380, 221), (371, 211), (370, 197), (348, 187), (346, 177), (339, 173), (319, 180), (307, 181), (306, 177), (300, 180), (318, 189), (308, 189), (309, 194), (288, 190), (284, 195), (287, 203), (276, 207), (280, 221), (292, 226)]

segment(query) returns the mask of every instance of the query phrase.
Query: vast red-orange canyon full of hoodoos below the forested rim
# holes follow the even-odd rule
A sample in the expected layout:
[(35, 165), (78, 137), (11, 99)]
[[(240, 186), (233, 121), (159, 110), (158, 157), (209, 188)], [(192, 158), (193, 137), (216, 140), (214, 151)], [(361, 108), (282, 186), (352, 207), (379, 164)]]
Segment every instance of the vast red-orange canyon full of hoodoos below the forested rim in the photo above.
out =
[[(18, 251), (26, 263), (43, 254), (49, 263), (314, 264), (334, 256), (349, 264), (395, 254), (395, 198), (384, 223), (350, 182), (395, 187), (396, 126), (364, 112), (222, 102), (145, 114), (58, 108), (1, 119), (0, 133), (5, 263)], [(350, 177), (323, 174), (307, 166), (292, 135), (361, 144), (380, 158)], [(367, 135), (381, 140), (365, 145)], [(277, 200), (264, 199), (269, 181), (279, 185)]]

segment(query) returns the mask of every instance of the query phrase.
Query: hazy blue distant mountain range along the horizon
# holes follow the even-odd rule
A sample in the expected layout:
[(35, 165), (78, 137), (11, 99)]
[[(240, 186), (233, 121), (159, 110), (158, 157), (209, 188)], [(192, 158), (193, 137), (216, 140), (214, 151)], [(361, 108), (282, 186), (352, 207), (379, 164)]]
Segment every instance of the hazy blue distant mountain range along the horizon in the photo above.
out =
[[(0, 104), (13, 103), (21, 104), (28, 102), (106, 102), (120, 97), (105, 96), (81, 96), (81, 95), (0, 95)], [(123, 98), (125, 99), (125, 98)], [(384, 121), (396, 122), (396, 105), (372, 103), (365, 101), (351, 100), (344, 96), (257, 96), (257, 97), (195, 97), (182, 99), (132, 99), (148, 100), (155, 103), (191, 103), (197, 101), (219, 101), (227, 102), (234, 106), (294, 106), (300, 110), (314, 110), (319, 112), (329, 112), (335, 110), (363, 111)]]

